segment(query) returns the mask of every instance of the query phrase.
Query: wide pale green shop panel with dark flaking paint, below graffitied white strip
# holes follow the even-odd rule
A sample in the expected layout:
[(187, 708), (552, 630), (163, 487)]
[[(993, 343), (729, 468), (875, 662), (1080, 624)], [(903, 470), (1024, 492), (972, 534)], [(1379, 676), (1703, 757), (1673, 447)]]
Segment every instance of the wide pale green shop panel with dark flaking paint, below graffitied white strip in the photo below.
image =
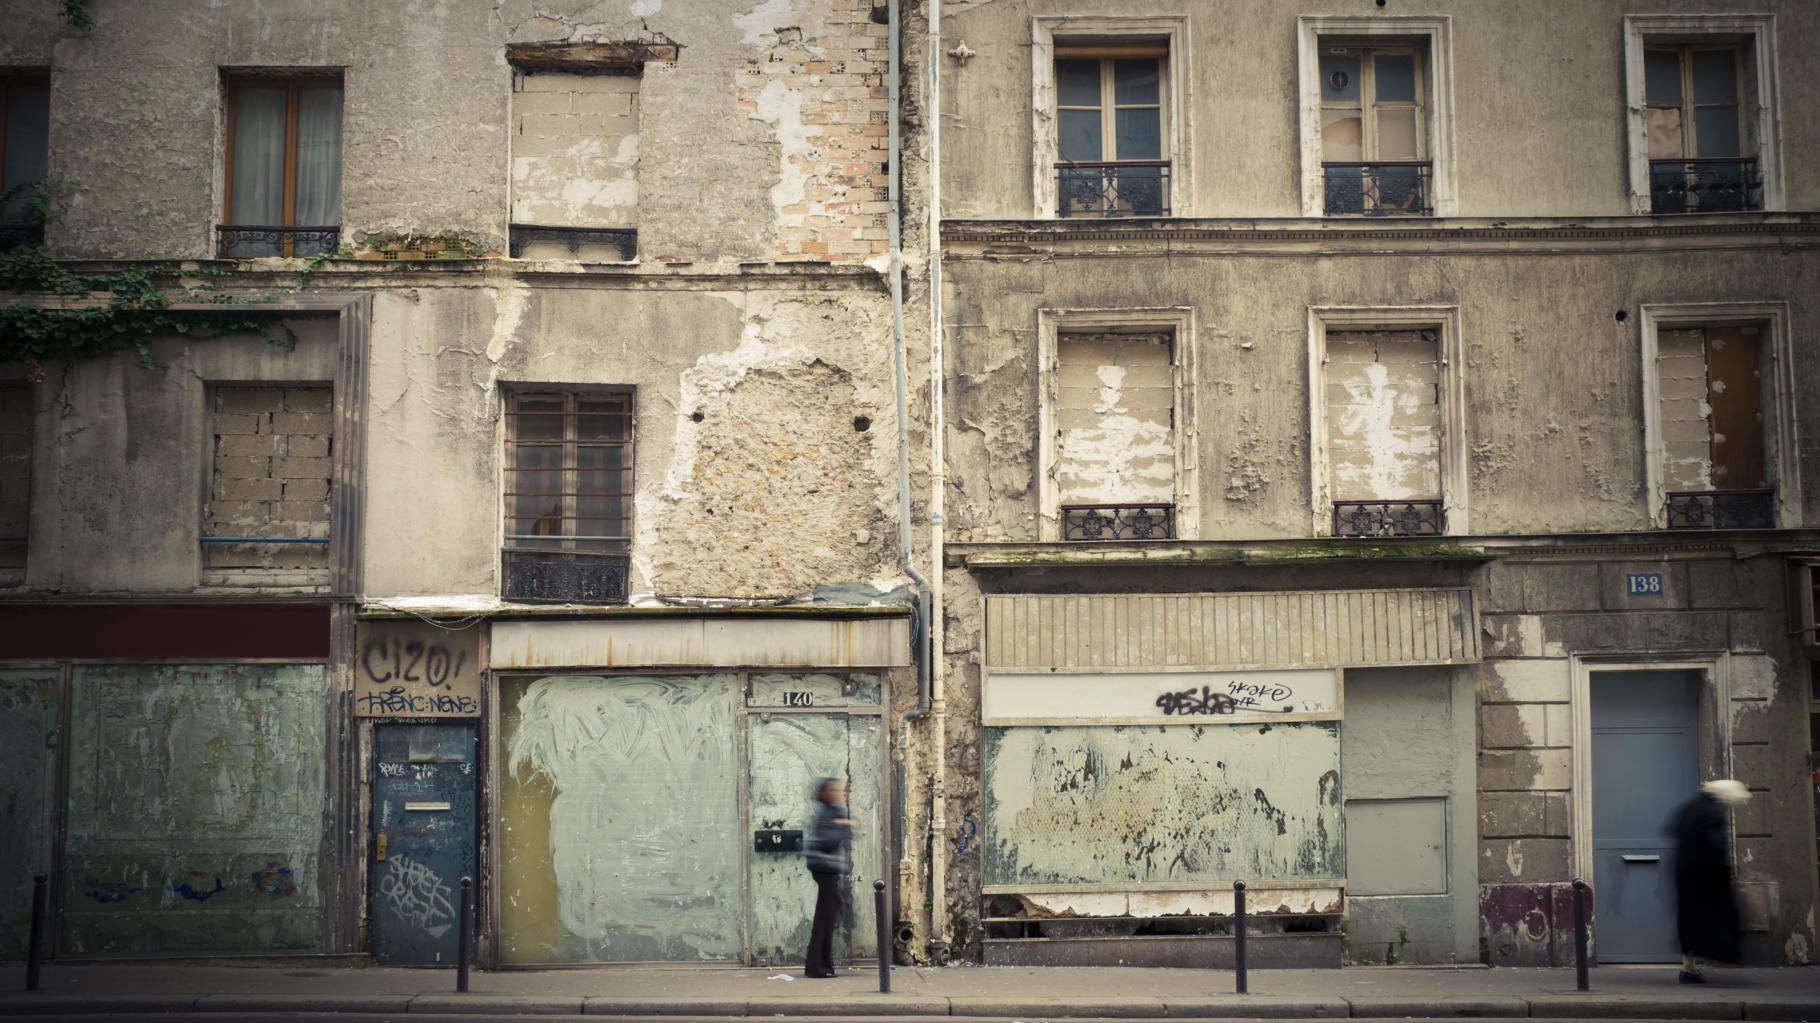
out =
[(1340, 726), (985, 730), (988, 886), (1345, 877)]

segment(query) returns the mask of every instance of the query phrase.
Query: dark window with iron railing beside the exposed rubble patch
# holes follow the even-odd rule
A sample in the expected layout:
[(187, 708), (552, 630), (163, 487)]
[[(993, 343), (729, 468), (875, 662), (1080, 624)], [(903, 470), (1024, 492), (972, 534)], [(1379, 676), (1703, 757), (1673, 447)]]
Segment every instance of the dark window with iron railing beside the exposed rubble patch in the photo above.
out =
[(632, 397), (624, 390), (506, 395), (506, 599), (626, 599)]

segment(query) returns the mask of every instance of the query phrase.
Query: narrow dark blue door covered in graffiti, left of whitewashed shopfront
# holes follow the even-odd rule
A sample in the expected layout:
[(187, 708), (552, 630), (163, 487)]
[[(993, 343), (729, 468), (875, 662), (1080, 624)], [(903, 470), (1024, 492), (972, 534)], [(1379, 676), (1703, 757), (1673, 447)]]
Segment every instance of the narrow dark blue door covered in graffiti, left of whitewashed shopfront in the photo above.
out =
[(475, 874), (475, 728), (375, 724), (373, 746), (373, 957), (453, 967), (460, 879)]

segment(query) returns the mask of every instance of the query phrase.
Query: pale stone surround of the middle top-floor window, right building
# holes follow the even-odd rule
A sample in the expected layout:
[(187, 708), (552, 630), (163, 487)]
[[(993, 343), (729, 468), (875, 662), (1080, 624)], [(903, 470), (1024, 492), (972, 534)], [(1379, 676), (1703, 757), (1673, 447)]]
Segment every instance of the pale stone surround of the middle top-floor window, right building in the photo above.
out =
[[(1303, 15), (1296, 20), (1296, 82), (1301, 116), (1301, 215), (1327, 217), (1327, 186), (1321, 173), (1321, 40), (1323, 38), (1414, 40), (1429, 60), (1429, 158), (1434, 162), (1434, 217), (1456, 217), (1460, 197), (1454, 180), (1454, 51), (1452, 18)], [(1645, 175), (1647, 177), (1647, 175)], [(1645, 187), (1647, 195), (1649, 189)]]

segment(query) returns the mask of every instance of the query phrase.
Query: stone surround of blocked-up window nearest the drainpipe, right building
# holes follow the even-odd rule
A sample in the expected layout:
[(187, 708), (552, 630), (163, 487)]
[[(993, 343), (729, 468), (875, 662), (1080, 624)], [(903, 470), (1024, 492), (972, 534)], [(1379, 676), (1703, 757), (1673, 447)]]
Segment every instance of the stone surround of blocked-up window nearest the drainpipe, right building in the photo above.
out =
[(1057, 335), (1063, 331), (1168, 331), (1176, 390), (1176, 539), (1199, 537), (1199, 468), (1194, 428), (1194, 309), (1037, 309), (1037, 541), (1061, 542), (1061, 493), (1056, 482)]

